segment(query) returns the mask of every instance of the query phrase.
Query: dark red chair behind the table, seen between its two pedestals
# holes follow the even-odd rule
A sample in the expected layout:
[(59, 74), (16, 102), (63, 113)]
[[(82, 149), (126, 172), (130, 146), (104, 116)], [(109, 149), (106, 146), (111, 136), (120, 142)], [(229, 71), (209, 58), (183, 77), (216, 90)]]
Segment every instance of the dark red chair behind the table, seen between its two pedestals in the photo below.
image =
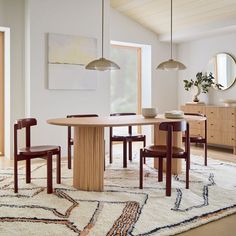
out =
[[(136, 113), (112, 113), (110, 116), (132, 116)], [(129, 147), (129, 160), (132, 160), (132, 142), (143, 142), (146, 145), (146, 136), (132, 132), (132, 126), (128, 126), (128, 133), (119, 135), (113, 134), (113, 128), (110, 127), (110, 163), (112, 163), (112, 142), (123, 143), (123, 167), (127, 167), (127, 144)]]

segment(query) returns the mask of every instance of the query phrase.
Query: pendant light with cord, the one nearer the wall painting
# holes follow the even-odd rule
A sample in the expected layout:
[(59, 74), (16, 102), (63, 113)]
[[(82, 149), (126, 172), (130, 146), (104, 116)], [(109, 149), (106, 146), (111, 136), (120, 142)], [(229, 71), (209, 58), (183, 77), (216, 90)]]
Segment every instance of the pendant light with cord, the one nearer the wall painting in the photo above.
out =
[(104, 0), (102, 0), (102, 57), (94, 61), (89, 62), (85, 69), (87, 70), (118, 70), (120, 67), (113, 61), (110, 61), (103, 57), (103, 30), (104, 30)]

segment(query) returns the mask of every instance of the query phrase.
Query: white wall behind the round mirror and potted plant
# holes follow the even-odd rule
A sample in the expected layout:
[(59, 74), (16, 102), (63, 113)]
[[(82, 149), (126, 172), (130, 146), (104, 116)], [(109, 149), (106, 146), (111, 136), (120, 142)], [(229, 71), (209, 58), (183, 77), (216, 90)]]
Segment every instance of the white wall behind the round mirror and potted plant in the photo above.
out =
[[(184, 90), (183, 79), (195, 79), (199, 71), (203, 71), (210, 58), (219, 52), (227, 52), (236, 58), (236, 32), (199, 39), (178, 46), (178, 58), (186, 62), (187, 70), (179, 72), (179, 105), (192, 101), (190, 92)], [(200, 100), (210, 104), (219, 104), (220, 99), (236, 99), (236, 85), (224, 91), (210, 89), (209, 94), (202, 94)]]

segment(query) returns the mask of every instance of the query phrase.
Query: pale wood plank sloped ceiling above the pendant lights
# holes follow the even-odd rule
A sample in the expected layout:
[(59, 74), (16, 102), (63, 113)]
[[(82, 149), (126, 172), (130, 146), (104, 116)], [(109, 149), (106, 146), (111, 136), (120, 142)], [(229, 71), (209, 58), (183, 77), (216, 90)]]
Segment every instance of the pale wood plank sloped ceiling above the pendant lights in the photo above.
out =
[[(170, 34), (170, 0), (110, 0), (122, 14), (159, 35)], [(236, 0), (173, 0), (173, 35), (236, 27)]]

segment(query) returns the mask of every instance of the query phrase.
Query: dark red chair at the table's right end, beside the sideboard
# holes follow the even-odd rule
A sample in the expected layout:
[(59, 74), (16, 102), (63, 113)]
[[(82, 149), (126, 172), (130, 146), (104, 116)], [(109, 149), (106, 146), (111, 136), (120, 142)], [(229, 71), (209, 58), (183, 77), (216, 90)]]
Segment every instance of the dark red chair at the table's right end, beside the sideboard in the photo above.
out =
[[(190, 115), (190, 116), (201, 116), (205, 117), (206, 115), (201, 113), (184, 113), (184, 115)], [(201, 121), (204, 123), (204, 133), (199, 135), (193, 135), (190, 134), (190, 143), (201, 143), (204, 146), (204, 164), (207, 166), (207, 118), (204, 121)], [(190, 130), (191, 130), (191, 124), (190, 124)], [(191, 133), (191, 132), (190, 132)], [(186, 137), (183, 135), (182, 141), (185, 142)]]

